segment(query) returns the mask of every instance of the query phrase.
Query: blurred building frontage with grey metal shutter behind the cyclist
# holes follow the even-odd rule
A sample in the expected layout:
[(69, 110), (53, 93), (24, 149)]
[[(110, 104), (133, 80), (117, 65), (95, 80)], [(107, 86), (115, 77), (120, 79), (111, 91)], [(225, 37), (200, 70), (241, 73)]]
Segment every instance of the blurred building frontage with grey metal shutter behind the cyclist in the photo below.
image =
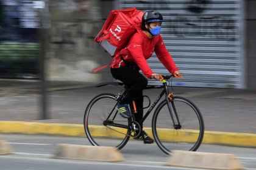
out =
[[(112, 81), (108, 68), (91, 72), (112, 60), (93, 39), (110, 10), (137, 7), (158, 10), (166, 20), (162, 36), (186, 77), (174, 86), (256, 88), (255, 1), (0, 2), (0, 78)], [(148, 62), (167, 73), (155, 56)]]

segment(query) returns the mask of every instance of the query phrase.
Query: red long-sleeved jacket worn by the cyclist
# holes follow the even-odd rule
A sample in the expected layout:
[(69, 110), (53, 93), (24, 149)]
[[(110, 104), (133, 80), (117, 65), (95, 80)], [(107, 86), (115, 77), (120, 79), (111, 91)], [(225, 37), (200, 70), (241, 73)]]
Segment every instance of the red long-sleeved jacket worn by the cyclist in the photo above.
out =
[(137, 63), (143, 74), (146, 77), (151, 78), (151, 75), (154, 72), (152, 72), (146, 60), (152, 56), (153, 52), (155, 52), (157, 58), (161, 63), (163, 63), (170, 73), (174, 73), (178, 70), (171, 58), (171, 55), (165, 47), (162, 36), (157, 35), (150, 39), (143, 32), (137, 32), (132, 35), (127, 47), (121, 50), (119, 54), (113, 58), (110, 67), (119, 68), (121, 66), (125, 66), (121, 59), (121, 56), (123, 56), (124, 60)]

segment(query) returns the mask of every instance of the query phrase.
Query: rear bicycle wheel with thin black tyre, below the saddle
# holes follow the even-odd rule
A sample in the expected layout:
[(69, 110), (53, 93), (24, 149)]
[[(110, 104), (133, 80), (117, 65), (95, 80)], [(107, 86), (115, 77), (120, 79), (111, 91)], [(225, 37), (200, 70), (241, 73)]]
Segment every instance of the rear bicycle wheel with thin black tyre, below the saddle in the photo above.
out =
[(129, 129), (104, 125), (110, 115), (108, 120), (128, 126), (127, 119), (121, 117), (115, 108), (117, 103), (115, 99), (116, 95), (100, 94), (94, 97), (85, 109), (85, 134), (94, 146), (111, 146), (121, 149), (129, 140)]

